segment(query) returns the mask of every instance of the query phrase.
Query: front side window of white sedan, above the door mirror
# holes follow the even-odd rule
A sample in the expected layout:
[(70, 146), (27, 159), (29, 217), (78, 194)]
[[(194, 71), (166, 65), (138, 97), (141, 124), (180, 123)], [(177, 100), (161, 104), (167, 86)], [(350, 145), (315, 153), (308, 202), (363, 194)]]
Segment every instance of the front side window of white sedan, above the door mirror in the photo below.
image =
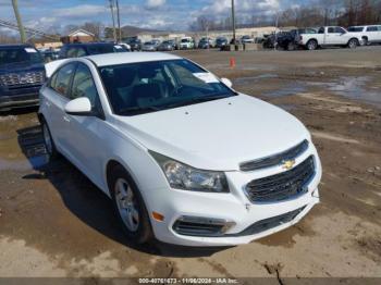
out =
[(76, 99), (79, 97), (87, 97), (90, 100), (93, 108), (100, 108), (98, 91), (93, 80), (93, 74), (83, 63), (79, 63), (75, 71), (71, 92), (71, 99)]

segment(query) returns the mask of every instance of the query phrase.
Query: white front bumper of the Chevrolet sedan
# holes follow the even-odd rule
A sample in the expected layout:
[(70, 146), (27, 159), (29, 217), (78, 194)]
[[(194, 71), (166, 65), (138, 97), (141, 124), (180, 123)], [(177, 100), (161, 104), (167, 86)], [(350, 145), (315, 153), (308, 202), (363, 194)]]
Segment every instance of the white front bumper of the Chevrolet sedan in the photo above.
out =
[[(282, 170), (272, 168), (255, 172), (226, 172), (231, 193), (206, 194), (169, 189), (171, 198), (156, 200), (153, 211), (162, 213), (164, 222), (152, 219), (156, 237), (164, 243), (182, 246), (234, 246), (282, 231), (299, 222), (319, 199), (318, 185), (321, 178), (321, 163), (315, 147), (296, 159), (296, 165), (309, 156), (316, 160), (316, 174), (307, 185), (304, 195), (283, 201), (250, 202), (244, 188), (248, 182), (273, 175)], [(168, 189), (167, 189), (168, 190)], [(293, 214), (294, 213), (294, 214)], [(290, 216), (291, 219), (278, 219)], [(190, 236), (179, 234), (174, 225), (183, 216), (207, 218), (232, 224), (221, 236)], [(265, 223), (265, 225), (263, 225)], [(258, 231), (258, 226), (260, 231)]]

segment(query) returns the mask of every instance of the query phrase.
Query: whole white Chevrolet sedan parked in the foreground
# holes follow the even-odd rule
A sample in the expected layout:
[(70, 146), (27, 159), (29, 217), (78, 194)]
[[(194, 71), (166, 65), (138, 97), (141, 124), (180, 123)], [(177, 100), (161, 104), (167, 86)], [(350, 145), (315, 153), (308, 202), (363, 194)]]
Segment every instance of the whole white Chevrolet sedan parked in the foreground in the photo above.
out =
[(246, 244), (319, 202), (321, 163), (307, 128), (189, 60), (66, 60), (40, 100), (49, 157), (63, 154), (112, 199), (133, 243)]

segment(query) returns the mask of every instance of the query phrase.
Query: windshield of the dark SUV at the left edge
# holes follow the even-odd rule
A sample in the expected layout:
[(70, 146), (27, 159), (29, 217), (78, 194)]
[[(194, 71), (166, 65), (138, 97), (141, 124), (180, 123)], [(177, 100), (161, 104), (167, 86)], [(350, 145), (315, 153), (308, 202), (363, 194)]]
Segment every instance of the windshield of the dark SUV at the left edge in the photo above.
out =
[(21, 62), (42, 63), (42, 58), (34, 48), (0, 49), (0, 65)]

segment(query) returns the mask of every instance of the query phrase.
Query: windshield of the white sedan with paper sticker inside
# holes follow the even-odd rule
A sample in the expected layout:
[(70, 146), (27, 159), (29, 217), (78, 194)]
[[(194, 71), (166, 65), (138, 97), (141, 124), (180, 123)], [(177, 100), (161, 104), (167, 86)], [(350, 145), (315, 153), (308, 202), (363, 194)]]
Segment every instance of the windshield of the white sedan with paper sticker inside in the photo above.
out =
[(235, 96), (212, 74), (187, 60), (99, 69), (115, 114), (137, 115)]

